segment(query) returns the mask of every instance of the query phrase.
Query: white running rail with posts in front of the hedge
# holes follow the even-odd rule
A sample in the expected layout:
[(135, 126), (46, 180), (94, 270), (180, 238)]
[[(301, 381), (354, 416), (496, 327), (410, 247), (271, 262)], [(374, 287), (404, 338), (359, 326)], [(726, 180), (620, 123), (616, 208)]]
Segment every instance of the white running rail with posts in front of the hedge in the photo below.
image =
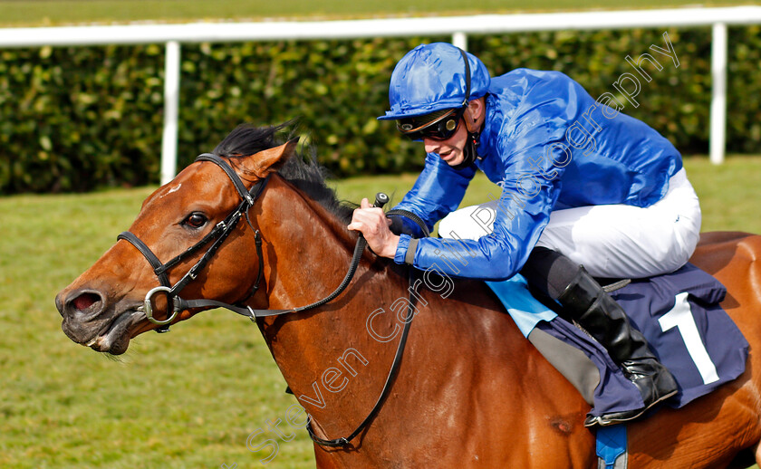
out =
[(727, 93), (727, 26), (761, 24), (761, 6), (672, 8), (547, 14), (478, 14), (422, 18), (260, 23), (190, 23), (61, 26), (0, 29), (0, 48), (166, 43), (165, 118), (161, 182), (175, 176), (181, 43), (344, 39), (451, 34), (467, 47), (467, 34), (712, 26), (710, 158), (724, 159)]

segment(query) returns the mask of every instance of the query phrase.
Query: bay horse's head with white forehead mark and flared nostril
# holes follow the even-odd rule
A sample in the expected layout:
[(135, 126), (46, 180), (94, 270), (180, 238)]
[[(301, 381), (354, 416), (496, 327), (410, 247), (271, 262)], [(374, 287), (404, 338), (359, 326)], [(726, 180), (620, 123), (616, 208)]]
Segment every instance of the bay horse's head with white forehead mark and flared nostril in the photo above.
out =
[[(275, 147), (275, 130), (277, 128), (238, 128), (214, 151), (219, 156), (234, 157), (225, 160), (246, 190), (294, 153), (295, 142)], [(245, 144), (241, 144), (241, 140)], [(242, 195), (232, 177), (236, 175), (227, 175), (213, 162), (197, 161), (150, 195), (130, 226), (132, 240), (120, 239), (56, 296), (55, 304), (63, 316), (62, 328), (66, 335), (92, 349), (120, 354), (127, 349), (131, 338), (156, 329), (156, 323), (149, 321), (146, 315), (146, 294), (159, 286), (159, 282), (176, 286), (219, 239), (219, 235), (209, 234), (219, 231), (218, 224), (234, 214), (242, 203)], [(249, 211), (254, 218), (257, 207)], [(197, 275), (186, 279), (183, 297), (237, 302), (250, 294), (258, 263), (246, 215), (224, 235), (225, 249), (214, 253)], [(183, 254), (196, 245), (197, 250)], [(150, 253), (156, 257), (153, 266)], [(155, 264), (175, 258), (177, 263), (165, 264), (166, 277), (161, 280), (160, 272), (157, 275), (154, 270)], [(250, 282), (241, 282), (241, 279), (250, 279)], [(153, 295), (149, 303), (154, 318), (166, 319), (172, 313), (168, 311), (172, 310), (169, 295)], [(188, 319), (193, 312), (178, 311), (174, 321)]]

